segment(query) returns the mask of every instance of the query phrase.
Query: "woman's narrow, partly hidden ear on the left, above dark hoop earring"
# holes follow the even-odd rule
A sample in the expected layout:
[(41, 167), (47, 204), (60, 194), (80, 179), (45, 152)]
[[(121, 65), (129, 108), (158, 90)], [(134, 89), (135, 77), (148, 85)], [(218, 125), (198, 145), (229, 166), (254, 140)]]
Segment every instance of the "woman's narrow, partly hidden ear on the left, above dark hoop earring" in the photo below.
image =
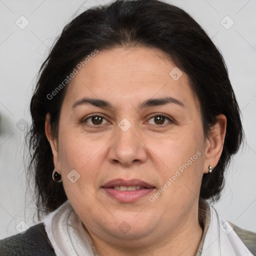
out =
[(50, 124), (50, 113), (49, 112), (46, 114), (46, 117), (45, 117), (44, 130), (45, 130), (46, 137), (47, 137), (47, 139), (50, 143), (55, 170), (60, 174), (60, 172), (57, 168), (57, 163), (59, 162), (59, 160), (58, 160), (57, 139), (52, 135), (51, 124)]

